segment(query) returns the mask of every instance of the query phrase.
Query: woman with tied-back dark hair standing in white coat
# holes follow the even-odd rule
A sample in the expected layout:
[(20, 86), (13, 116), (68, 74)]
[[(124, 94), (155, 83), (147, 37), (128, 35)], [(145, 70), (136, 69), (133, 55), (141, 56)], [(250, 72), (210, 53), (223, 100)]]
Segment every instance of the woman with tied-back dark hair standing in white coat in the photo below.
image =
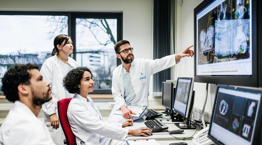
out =
[(76, 61), (68, 57), (71, 53), (73, 53), (71, 37), (64, 34), (56, 36), (52, 57), (45, 60), (40, 69), (43, 78), (50, 83), (52, 89), (52, 100), (42, 105), (45, 115), (44, 123), (57, 145), (63, 145), (63, 139), (65, 139), (63, 130), (59, 126), (57, 101), (74, 96), (74, 94), (68, 93), (62, 84), (63, 77), (77, 67)]

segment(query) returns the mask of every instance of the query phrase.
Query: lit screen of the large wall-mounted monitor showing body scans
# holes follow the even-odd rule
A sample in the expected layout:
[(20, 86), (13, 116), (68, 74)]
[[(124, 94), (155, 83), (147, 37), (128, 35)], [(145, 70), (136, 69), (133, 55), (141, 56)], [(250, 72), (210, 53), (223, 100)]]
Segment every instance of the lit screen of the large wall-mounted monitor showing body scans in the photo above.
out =
[(196, 15), (196, 75), (252, 76), (252, 0), (215, 0)]

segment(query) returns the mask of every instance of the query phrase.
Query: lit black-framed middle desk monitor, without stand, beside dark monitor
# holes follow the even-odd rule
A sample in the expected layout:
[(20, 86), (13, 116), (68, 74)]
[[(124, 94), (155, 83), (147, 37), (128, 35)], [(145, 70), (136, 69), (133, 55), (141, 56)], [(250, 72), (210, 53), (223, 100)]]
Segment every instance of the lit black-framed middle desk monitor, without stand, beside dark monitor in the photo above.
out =
[(176, 92), (174, 95), (174, 110), (180, 115), (186, 117), (187, 110), (190, 106), (188, 102), (191, 100), (193, 91), (193, 78), (179, 78), (177, 81)]

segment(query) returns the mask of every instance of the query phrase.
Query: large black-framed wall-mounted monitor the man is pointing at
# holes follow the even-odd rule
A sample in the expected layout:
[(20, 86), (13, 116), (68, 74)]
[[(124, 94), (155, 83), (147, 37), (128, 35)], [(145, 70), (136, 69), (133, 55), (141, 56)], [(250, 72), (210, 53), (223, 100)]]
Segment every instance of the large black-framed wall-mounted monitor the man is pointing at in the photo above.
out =
[(256, 0), (204, 0), (194, 9), (195, 82), (261, 86), (257, 5)]

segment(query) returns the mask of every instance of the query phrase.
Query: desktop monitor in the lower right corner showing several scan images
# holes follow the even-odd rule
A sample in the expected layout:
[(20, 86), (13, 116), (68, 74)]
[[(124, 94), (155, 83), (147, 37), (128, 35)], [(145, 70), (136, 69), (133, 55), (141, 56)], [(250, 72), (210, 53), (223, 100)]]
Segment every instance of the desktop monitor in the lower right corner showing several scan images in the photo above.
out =
[(257, 144), (262, 90), (218, 85), (208, 137), (216, 144)]

